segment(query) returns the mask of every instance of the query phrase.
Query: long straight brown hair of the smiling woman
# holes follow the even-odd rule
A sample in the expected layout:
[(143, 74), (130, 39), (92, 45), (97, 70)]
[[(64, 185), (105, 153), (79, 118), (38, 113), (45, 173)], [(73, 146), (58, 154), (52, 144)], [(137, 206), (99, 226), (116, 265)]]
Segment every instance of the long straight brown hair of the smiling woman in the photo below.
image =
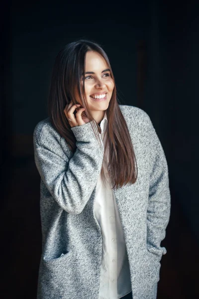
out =
[[(90, 114), (86, 101), (84, 80), (83, 85), (81, 85), (82, 74), (85, 78), (85, 57), (88, 51), (96, 51), (105, 59), (114, 82), (112, 97), (106, 110), (108, 124), (105, 132), (107, 138), (104, 152), (108, 145), (108, 173), (113, 188), (116, 186), (117, 189), (127, 183), (136, 182), (137, 163), (128, 128), (118, 106), (115, 81), (109, 59), (98, 43), (81, 39), (67, 44), (58, 53), (52, 70), (48, 96), (48, 116), (55, 130), (65, 138), (69, 149), (75, 152), (77, 148), (76, 138), (66, 119), (64, 108), (71, 101), (73, 105), (82, 101), (85, 108), (83, 113), (91, 120), (95, 136), (101, 146), (100, 126)], [(101, 175), (104, 180), (103, 166), (101, 167)]]

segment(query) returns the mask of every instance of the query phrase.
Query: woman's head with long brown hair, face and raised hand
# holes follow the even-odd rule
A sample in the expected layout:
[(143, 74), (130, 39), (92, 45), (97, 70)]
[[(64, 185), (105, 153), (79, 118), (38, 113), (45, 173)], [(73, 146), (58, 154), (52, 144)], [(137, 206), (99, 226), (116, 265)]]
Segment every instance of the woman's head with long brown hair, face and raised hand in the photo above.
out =
[[(48, 115), (73, 152), (77, 140), (71, 129), (90, 122), (100, 150), (109, 149), (108, 172), (114, 187), (135, 183), (137, 168), (132, 141), (118, 106), (111, 65), (100, 45), (80, 40), (66, 45), (58, 53), (52, 72)], [(106, 115), (104, 133), (109, 138), (102, 148), (99, 124)], [(104, 181), (103, 166), (101, 176)]]

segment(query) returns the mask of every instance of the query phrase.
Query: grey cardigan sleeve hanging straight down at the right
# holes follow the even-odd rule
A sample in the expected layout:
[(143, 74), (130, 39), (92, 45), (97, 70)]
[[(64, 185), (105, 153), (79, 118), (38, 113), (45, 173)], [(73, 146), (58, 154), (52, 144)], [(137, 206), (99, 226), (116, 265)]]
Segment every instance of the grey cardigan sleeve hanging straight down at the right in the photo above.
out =
[(171, 196), (165, 153), (149, 117), (148, 120), (152, 166), (147, 208), (147, 249), (160, 261), (162, 255), (167, 253), (160, 243), (165, 238), (170, 218)]

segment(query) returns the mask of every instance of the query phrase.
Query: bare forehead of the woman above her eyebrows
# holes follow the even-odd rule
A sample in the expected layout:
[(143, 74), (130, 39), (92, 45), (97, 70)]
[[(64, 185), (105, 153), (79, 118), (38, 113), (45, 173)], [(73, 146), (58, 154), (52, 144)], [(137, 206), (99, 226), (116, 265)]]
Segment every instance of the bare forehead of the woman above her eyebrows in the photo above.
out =
[(86, 53), (86, 71), (102, 71), (108, 67), (105, 59), (94, 51), (88, 51)]

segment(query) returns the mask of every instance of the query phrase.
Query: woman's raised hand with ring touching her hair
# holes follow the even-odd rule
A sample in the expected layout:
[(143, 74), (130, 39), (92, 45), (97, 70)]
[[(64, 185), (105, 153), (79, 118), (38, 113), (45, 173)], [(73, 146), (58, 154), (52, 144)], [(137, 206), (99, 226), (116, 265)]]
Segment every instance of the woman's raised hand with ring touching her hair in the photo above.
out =
[[(76, 127), (76, 126), (82, 126), (84, 124), (87, 124), (90, 122), (90, 120), (83, 116), (82, 113), (85, 110), (85, 108), (80, 108), (80, 104), (75, 104), (75, 105), (71, 105), (72, 102), (70, 102), (69, 104), (67, 104), (64, 108), (64, 114), (68, 120), (68, 118), (71, 119), (68, 120), (71, 128)], [(77, 111), (76, 115), (74, 114), (74, 111)]]

